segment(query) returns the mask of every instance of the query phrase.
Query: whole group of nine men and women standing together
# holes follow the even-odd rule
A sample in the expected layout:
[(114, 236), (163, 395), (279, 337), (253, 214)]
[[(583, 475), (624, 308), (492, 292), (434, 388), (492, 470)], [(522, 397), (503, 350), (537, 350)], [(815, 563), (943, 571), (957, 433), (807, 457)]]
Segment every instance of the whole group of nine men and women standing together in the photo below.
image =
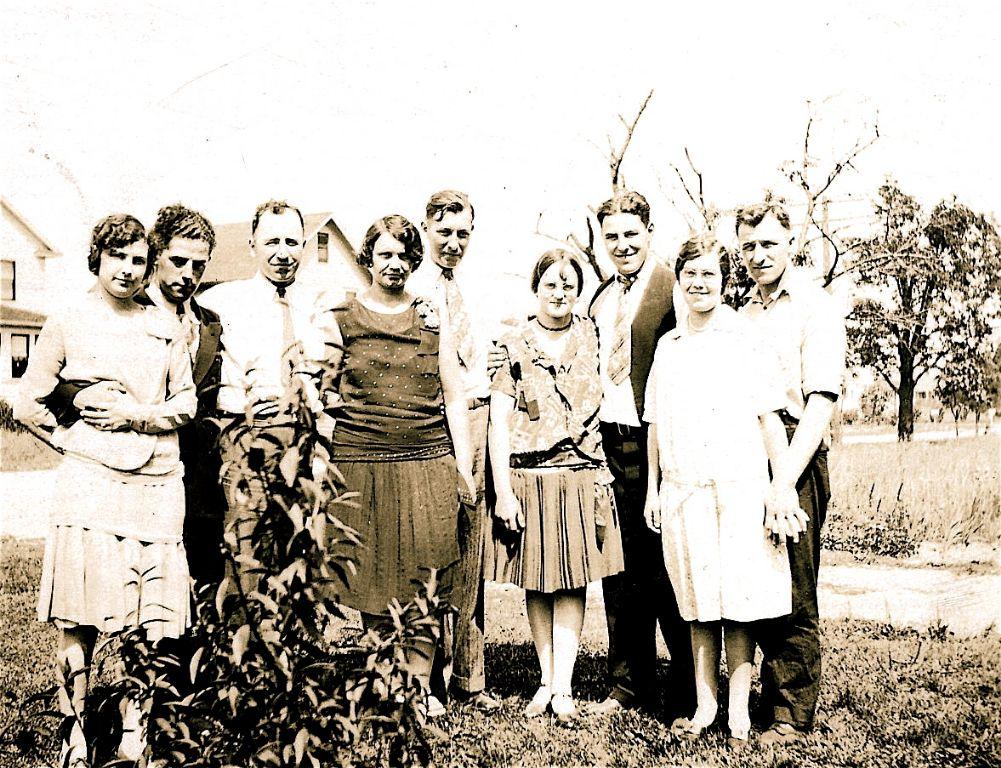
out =
[[(408, 655), (427, 716), (446, 696), (500, 706), (483, 671), (483, 583), (497, 581), (526, 591), (540, 666), (526, 715), (572, 722), (586, 589), (601, 581), (610, 691), (591, 714), (658, 705), (660, 625), (679, 737), (716, 719), (721, 629), (731, 738), (750, 735), (755, 645), (760, 740), (812, 727), (843, 318), (790, 265), (780, 204), (738, 211), (756, 283), (739, 312), (722, 302), (729, 256), (710, 234), (688, 240), (672, 269), (651, 254), (643, 195), (618, 192), (597, 214), (615, 276), (580, 311), (581, 261), (547, 251), (531, 274), (535, 313), (499, 339), (461, 269), (474, 220), (461, 192), (432, 195), (419, 228), (375, 221), (357, 254), (370, 284), (327, 302), (296, 280), (305, 232), (286, 202), (254, 214), (257, 273), (197, 297), (215, 246), (204, 216), (170, 205), (149, 232), (124, 214), (98, 223), (96, 284), (49, 317), (15, 407), (65, 454), (38, 609), (61, 630), (61, 705), (76, 723), (64, 764), (87, 764), (77, 673), (96, 634), (182, 638), (192, 581), (222, 577), (223, 529), (248, 508), (222, 471), (219, 420), (288, 429), (293, 379), (330, 418), (331, 459), (357, 493), (338, 511), (363, 544), (339, 601), (378, 632), (389, 604), (406, 606), (431, 572), (445, 587), (452, 620)], [(337, 371), (328, 392), (322, 363)], [(133, 709), (123, 758), (141, 751)]]

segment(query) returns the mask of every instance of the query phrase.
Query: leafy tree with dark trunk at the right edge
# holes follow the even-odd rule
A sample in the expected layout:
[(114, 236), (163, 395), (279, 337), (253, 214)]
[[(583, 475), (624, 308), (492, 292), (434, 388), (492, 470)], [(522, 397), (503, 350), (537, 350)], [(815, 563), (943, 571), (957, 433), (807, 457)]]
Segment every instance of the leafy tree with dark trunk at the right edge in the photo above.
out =
[(897, 438), (908, 441), (914, 389), (929, 371), (943, 371), (966, 396), (977, 389), (969, 360), (999, 314), (1001, 246), (983, 214), (955, 199), (925, 214), (891, 181), (875, 214), (876, 231), (854, 249), (851, 268), (867, 297), (849, 316), (849, 341), (853, 361), (897, 394)]

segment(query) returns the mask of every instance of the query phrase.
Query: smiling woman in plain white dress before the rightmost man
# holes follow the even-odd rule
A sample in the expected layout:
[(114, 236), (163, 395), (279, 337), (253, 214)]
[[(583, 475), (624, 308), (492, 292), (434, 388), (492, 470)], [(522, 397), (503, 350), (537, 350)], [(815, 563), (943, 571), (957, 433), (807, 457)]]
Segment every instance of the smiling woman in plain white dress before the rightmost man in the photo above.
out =
[(754, 645), (748, 622), (791, 610), (789, 565), (768, 516), (768, 462), (788, 448), (771, 362), (722, 303), (726, 252), (694, 237), (675, 266), (688, 312), (658, 344), (647, 386), (647, 523), (660, 531), (682, 618), (692, 622), (698, 705), (673, 730), (695, 738), (717, 714), (721, 626), (730, 670), (731, 737), (750, 731)]

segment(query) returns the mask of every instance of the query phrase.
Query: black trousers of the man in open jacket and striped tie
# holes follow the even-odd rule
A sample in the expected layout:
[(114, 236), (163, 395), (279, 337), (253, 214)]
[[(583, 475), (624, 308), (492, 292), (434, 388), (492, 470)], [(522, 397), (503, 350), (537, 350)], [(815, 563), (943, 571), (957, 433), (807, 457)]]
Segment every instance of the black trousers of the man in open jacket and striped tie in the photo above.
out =
[[(623, 434), (626, 432), (628, 434)], [(669, 717), (695, 710), (695, 667), (688, 622), (664, 566), (659, 535), (644, 520), (647, 497), (647, 430), (602, 424), (602, 442), (614, 478), (626, 570), (602, 580), (609, 627), (610, 696), (625, 706), (655, 706), (657, 625), (671, 654)]]

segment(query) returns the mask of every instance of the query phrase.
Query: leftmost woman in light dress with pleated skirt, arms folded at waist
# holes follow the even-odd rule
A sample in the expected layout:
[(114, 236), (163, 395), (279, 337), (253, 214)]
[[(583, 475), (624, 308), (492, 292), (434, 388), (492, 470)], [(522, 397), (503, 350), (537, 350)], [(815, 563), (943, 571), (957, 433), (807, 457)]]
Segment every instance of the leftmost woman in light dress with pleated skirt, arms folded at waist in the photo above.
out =
[[(96, 284), (46, 320), (14, 407), (15, 418), (64, 454), (38, 618), (60, 630), (59, 703), (74, 721), (60, 765), (70, 768), (89, 765), (83, 712), (97, 633), (141, 627), (150, 641), (177, 638), (190, 620), (175, 433), (196, 407), (187, 346), (174, 317), (134, 300), (153, 266), (137, 219), (102, 219), (87, 265)], [(117, 381), (125, 394), (91, 402), (67, 429), (46, 399), (69, 380)], [(141, 720), (131, 702), (119, 757), (141, 754)]]

